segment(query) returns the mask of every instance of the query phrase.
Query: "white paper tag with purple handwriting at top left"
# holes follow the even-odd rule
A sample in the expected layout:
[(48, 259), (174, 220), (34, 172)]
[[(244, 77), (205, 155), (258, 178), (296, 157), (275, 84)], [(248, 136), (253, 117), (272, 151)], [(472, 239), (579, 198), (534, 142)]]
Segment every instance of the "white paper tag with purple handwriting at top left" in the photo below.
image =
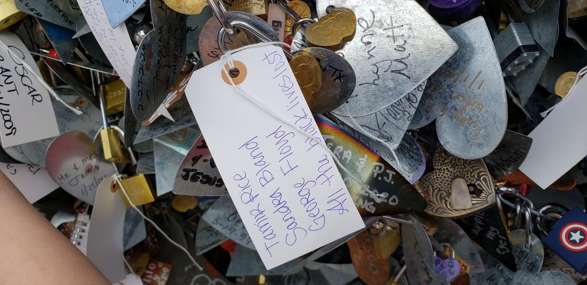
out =
[(77, 4), (120, 79), (130, 86), (130, 75), (133, 74), (134, 57), (137, 52), (130, 41), (126, 24), (123, 22), (116, 29), (112, 29), (101, 0), (77, 0)]

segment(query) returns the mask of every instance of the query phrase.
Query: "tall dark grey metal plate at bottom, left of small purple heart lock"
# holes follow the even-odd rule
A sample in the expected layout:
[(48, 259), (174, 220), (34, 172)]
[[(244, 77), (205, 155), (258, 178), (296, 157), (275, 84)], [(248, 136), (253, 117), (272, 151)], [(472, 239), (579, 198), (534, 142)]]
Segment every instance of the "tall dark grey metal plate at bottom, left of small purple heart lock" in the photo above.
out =
[(410, 284), (444, 284), (448, 281), (434, 272), (434, 251), (422, 224), (410, 217), (413, 225), (402, 224), (406, 277)]

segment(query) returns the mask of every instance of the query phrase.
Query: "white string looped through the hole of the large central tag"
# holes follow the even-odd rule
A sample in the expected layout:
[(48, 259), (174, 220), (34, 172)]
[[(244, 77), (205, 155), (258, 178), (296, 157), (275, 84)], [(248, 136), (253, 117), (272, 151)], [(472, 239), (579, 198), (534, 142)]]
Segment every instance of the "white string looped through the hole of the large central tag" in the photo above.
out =
[[(274, 112), (272, 112), (271, 110), (269, 110), (268, 108), (266, 108), (264, 105), (262, 105), (261, 103), (257, 102), (257, 100), (255, 100), (255, 99), (251, 98), (249, 95), (245, 94), (245, 92), (242, 92), (237, 87), (237, 85), (234, 83), (234, 81), (232, 80), (232, 77), (230, 76), (230, 74), (228, 74), (228, 71), (226, 70), (226, 68), (224, 68), (224, 61), (226, 61), (227, 64), (229, 64), (229, 66), (230, 66), (230, 62), (232, 61), (232, 54), (238, 53), (238, 51), (245, 50), (245, 49), (251, 49), (252, 47), (272, 46), (274, 44), (285, 46), (285, 47), (289, 47), (289, 49), (292, 49), (292, 46), (290, 46), (289, 44), (286, 44), (286, 43), (282, 43), (282, 42), (256, 43), (256, 44), (250, 44), (248, 46), (239, 47), (238, 49), (229, 50), (229, 51), (227, 51), (227, 53), (222, 54), (222, 56), (220, 57), (220, 68), (221, 68), (220, 70), (222, 72), (224, 72), (224, 74), (227, 76), (228, 80), (232, 84), (232, 87), (234, 87), (234, 89), (237, 90), (237, 92), (239, 94), (241, 94), (243, 97), (245, 97), (249, 101), (253, 102), (255, 105), (257, 105), (259, 108), (263, 109), (265, 112), (267, 112), (270, 115), (274, 116), (274, 118), (279, 119), (279, 121), (281, 121), (283, 123), (286, 123), (289, 126), (291, 126), (292, 128), (294, 128), (296, 131), (301, 132), (303, 135), (305, 135), (309, 139), (316, 140), (312, 135), (310, 135), (309, 133), (304, 132), (302, 129), (298, 128), (298, 126), (296, 126), (294, 123), (289, 122), (288, 120), (286, 120), (282, 116), (279, 116), (279, 115), (275, 114)], [(365, 183), (363, 183), (363, 181), (359, 180), (359, 178), (357, 178), (354, 174), (350, 173), (350, 171), (348, 169), (346, 169), (346, 167), (343, 166), (342, 163), (340, 163), (340, 160), (338, 159), (338, 157), (336, 157), (336, 155), (332, 152), (332, 150), (330, 150), (328, 148), (328, 146), (326, 146), (326, 143), (324, 143), (323, 140), (319, 140), (318, 143), (326, 151), (328, 151), (330, 153), (330, 156), (332, 156), (332, 159), (334, 159), (336, 165), (338, 165), (340, 167), (340, 169), (342, 169), (346, 173), (346, 175), (348, 175), (350, 178), (353, 178), (353, 180), (357, 181), (360, 184), (360, 186), (363, 187), (363, 190), (366, 191), (367, 193), (369, 193), (370, 196), (373, 197), (373, 199), (376, 202), (383, 201), (383, 199), (385, 198), (385, 195), (383, 193), (381, 193), (381, 194), (380, 193), (375, 193), (372, 190), (369, 190), (369, 187), (366, 186)]]

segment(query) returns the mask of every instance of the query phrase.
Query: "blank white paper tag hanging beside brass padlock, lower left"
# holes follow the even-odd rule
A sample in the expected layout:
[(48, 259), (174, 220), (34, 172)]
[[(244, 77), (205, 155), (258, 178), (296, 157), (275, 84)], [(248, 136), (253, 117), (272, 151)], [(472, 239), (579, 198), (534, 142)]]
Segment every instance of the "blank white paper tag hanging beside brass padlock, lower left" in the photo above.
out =
[[(114, 177), (104, 178), (96, 191), (96, 200), (87, 230), (86, 256), (110, 283), (123, 280), (123, 229), (126, 205), (120, 190), (113, 192)], [(118, 187), (117, 187), (118, 188)]]

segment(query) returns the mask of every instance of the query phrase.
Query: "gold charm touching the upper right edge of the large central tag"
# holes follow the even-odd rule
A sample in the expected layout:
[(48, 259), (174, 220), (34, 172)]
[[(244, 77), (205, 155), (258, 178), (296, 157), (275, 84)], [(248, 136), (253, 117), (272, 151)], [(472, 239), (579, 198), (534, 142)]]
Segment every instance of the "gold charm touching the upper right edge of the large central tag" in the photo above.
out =
[(303, 98), (306, 102), (310, 102), (312, 94), (320, 90), (322, 86), (322, 70), (318, 61), (309, 54), (296, 54), (292, 60), (289, 61), (299, 88), (302, 90)]

